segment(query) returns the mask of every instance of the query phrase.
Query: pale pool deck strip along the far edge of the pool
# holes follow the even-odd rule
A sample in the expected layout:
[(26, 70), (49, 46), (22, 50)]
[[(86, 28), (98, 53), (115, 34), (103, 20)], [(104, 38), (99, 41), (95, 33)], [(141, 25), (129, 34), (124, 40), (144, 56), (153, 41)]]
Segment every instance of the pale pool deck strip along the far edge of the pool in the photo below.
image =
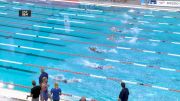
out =
[(138, 3), (122, 3), (122, 2), (103, 2), (103, 1), (89, 1), (89, 0), (49, 0), (56, 2), (71, 2), (80, 4), (97, 5), (104, 7), (126, 7), (126, 8), (140, 8), (140, 9), (150, 9), (150, 10), (165, 10), (170, 12), (180, 11), (180, 7), (164, 7), (157, 5), (140, 5)]

